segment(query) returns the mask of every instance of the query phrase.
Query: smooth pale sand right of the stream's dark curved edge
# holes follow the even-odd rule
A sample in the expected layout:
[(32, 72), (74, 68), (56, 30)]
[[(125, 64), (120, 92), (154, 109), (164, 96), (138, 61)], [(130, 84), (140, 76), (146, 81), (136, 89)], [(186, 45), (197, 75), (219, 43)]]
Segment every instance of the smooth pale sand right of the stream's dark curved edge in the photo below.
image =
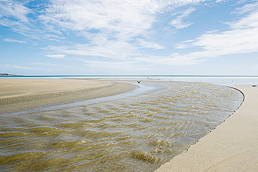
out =
[(258, 172), (258, 87), (233, 87), (245, 95), (240, 108), (155, 172)]

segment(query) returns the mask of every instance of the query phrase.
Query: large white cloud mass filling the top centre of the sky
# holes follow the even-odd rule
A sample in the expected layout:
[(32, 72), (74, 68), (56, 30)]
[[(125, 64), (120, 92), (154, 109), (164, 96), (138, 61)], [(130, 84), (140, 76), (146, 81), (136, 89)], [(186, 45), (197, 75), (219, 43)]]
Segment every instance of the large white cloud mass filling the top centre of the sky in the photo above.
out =
[[(46, 28), (55, 26), (65, 32), (76, 32), (89, 40), (87, 44), (49, 46), (54, 53), (108, 58), (138, 56), (140, 48), (164, 49), (146, 37), (160, 13), (204, 0), (53, 0), (39, 16)], [(184, 12), (191, 13), (194, 8)], [(182, 23), (181, 25), (189, 25)], [(136, 39), (137, 36), (143, 39)], [(136, 46), (136, 45), (140, 45)]]

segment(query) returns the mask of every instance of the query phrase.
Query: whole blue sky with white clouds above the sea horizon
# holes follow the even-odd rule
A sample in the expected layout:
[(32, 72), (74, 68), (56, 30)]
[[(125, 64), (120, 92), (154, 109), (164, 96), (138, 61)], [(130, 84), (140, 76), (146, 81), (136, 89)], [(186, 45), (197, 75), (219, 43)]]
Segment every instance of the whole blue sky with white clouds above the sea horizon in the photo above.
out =
[(0, 73), (258, 75), (258, 0), (0, 0)]

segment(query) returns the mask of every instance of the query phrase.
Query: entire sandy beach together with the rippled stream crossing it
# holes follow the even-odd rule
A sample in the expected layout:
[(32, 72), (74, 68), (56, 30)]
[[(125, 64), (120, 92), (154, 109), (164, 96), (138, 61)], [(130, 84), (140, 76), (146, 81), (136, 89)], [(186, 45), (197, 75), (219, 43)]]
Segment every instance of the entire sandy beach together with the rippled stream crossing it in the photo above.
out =
[[(141, 84), (83, 78), (1, 79), (3, 171), (258, 171), (258, 87), (168, 81)], [(144, 85), (155, 89), (94, 103), (96, 98)], [(66, 105), (88, 99), (93, 102), (87, 106)], [(57, 105), (63, 107), (49, 108)], [(66, 160), (67, 155), (70, 159)], [(62, 158), (54, 161), (48, 158), (52, 156)]]

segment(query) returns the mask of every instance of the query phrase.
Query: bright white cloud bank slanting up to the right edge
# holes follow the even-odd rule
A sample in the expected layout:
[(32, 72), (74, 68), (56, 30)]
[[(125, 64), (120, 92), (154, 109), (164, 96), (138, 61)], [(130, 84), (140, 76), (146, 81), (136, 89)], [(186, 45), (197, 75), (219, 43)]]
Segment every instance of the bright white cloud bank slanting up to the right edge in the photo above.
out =
[(252, 12), (248, 9), (251, 9), (250, 4), (238, 8), (239, 13), (246, 15), (228, 22), (229, 30), (206, 32), (194, 40), (177, 44), (176, 48), (200, 47), (200, 51), (186, 55), (199, 58), (258, 52), (258, 8), (255, 11), (252, 8)]

